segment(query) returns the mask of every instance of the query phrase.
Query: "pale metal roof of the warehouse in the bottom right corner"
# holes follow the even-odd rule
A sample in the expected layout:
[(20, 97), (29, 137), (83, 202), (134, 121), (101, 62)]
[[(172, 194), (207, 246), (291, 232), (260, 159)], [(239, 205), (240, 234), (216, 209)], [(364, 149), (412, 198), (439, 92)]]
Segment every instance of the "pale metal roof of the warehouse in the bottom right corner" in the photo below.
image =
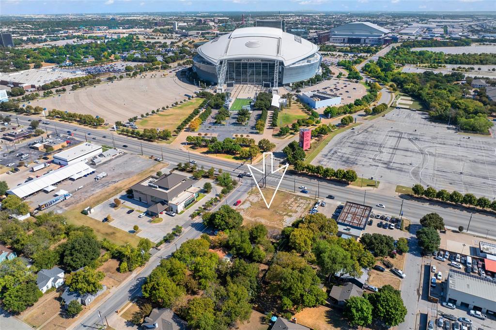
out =
[(449, 289), (496, 301), (496, 282), (490, 279), (449, 270), (448, 285)]

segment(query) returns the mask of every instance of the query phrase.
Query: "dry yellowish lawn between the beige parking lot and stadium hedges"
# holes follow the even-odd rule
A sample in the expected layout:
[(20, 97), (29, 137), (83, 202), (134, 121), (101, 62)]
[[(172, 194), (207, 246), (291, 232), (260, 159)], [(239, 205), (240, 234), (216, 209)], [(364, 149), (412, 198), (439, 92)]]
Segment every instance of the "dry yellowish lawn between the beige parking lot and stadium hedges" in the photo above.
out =
[(203, 102), (202, 98), (194, 98), (176, 107), (162, 110), (147, 118), (139, 119), (136, 125), (139, 128), (160, 128), (174, 131), (178, 125), (186, 119)]

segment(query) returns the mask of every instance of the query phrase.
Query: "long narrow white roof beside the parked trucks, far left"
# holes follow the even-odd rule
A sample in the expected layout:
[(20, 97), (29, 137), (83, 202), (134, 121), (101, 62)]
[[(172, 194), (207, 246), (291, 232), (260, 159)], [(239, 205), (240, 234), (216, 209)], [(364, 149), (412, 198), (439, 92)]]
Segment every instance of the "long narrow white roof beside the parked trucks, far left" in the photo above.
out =
[(56, 169), (48, 174), (37, 177), (36, 179), (28, 181), (24, 184), (21, 184), (20, 186), (7, 190), (7, 194), (13, 194), (20, 198), (24, 198), (42, 190), (43, 188), (61, 182), (74, 174), (77, 174), (81, 171), (87, 171), (89, 168), (90, 166), (83, 162), (67, 165), (62, 168)]

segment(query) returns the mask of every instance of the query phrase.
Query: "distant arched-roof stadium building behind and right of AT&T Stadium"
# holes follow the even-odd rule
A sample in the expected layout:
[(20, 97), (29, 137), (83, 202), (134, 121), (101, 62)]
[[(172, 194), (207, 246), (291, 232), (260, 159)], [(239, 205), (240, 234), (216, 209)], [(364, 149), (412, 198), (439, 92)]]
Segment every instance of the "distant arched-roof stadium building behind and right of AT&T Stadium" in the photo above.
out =
[(390, 32), (370, 22), (353, 22), (332, 29), (329, 41), (335, 44), (382, 45)]

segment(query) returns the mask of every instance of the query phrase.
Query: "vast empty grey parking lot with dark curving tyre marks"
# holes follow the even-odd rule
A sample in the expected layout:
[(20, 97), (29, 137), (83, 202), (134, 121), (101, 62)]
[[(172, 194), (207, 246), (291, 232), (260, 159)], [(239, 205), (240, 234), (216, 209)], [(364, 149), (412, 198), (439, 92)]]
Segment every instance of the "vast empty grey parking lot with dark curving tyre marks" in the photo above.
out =
[(382, 182), (496, 197), (496, 139), (458, 134), (424, 112), (393, 110), (334, 138), (312, 162)]

